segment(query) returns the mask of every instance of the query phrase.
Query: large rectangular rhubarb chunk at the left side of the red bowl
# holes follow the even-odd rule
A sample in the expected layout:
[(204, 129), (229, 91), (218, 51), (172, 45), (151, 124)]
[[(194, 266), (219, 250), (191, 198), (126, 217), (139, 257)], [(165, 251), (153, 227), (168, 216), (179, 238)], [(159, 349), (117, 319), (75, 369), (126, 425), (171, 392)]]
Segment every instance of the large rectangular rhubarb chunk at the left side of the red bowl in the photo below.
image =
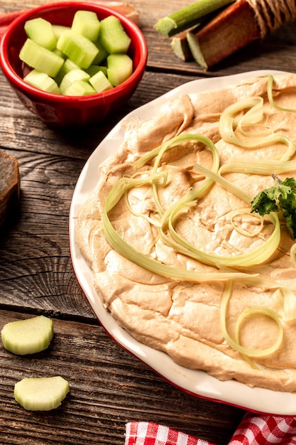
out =
[(31, 68), (46, 73), (50, 77), (55, 77), (64, 63), (64, 59), (60, 55), (38, 45), (31, 38), (26, 39), (19, 57)]

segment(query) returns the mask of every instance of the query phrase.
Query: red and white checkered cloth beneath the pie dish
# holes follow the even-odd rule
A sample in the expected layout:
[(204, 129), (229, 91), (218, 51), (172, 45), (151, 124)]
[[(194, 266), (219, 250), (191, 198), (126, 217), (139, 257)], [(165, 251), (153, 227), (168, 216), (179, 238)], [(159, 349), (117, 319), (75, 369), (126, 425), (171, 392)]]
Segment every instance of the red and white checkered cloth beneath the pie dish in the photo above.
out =
[[(247, 413), (229, 445), (296, 445), (296, 417)], [(125, 445), (215, 445), (153, 422), (126, 424)], [(216, 444), (219, 445), (219, 444)]]

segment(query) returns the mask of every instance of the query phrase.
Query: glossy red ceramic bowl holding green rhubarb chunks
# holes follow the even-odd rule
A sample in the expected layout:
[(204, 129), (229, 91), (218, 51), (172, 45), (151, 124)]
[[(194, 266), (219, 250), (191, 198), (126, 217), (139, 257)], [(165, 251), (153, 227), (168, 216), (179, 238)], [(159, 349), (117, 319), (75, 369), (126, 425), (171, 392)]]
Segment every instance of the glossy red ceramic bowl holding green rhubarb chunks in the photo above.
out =
[[(131, 38), (128, 55), (133, 59), (133, 74), (112, 90), (83, 97), (69, 97), (43, 92), (23, 82), (22, 63), (18, 58), (26, 40), (24, 24), (28, 19), (42, 17), (50, 23), (70, 26), (76, 11), (97, 13), (99, 20), (113, 15), (119, 18)], [(116, 11), (92, 3), (60, 2), (26, 11), (7, 28), (0, 44), (0, 65), (16, 95), (31, 112), (54, 127), (82, 126), (102, 120), (123, 106), (138, 87), (147, 62), (147, 45), (143, 33), (133, 21)]]

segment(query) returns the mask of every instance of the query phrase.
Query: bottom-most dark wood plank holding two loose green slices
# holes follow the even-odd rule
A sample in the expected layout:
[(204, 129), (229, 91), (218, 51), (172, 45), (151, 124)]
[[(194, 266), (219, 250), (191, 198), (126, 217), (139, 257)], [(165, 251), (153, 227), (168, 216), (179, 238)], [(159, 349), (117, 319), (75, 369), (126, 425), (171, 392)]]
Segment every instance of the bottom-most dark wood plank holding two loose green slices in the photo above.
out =
[[(0, 329), (28, 316), (0, 311)], [(122, 445), (126, 422), (135, 420), (228, 443), (243, 410), (177, 390), (122, 350), (100, 326), (53, 323), (55, 337), (42, 353), (17, 356), (0, 345), (1, 444)], [(51, 375), (70, 383), (70, 394), (59, 408), (28, 412), (16, 403), (13, 387), (18, 380)]]

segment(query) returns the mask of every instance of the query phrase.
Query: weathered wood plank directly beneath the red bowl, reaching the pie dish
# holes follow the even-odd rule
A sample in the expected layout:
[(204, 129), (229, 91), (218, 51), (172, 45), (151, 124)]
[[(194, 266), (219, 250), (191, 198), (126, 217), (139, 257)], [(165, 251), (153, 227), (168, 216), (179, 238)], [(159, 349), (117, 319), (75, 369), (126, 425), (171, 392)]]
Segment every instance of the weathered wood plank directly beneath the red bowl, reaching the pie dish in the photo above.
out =
[[(145, 73), (136, 92), (118, 112), (110, 115), (98, 126), (77, 129), (50, 129), (34, 114), (28, 112), (11, 90), (0, 71), (0, 147), (11, 150), (48, 153), (86, 161), (100, 141), (128, 112), (150, 102), (179, 85), (199, 77), (184, 75), (159, 75)], [(153, 85), (153, 87), (152, 87)], [(2, 93), (3, 92), (3, 93)], [(36, 141), (39, 141), (36, 144)], [(13, 155), (13, 151), (11, 154)]]

